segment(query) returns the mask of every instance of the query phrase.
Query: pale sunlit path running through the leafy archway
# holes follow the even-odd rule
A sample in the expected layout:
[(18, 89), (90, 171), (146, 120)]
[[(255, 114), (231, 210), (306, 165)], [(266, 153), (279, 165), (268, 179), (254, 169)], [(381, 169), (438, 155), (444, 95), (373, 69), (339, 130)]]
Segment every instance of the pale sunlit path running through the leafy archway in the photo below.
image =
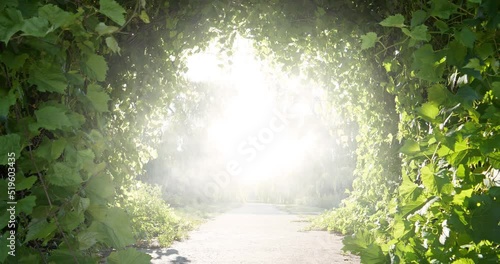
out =
[(301, 219), (272, 205), (246, 204), (205, 223), (171, 249), (148, 253), (152, 263), (359, 263), (359, 258), (342, 254), (341, 237), (300, 231), (307, 226)]

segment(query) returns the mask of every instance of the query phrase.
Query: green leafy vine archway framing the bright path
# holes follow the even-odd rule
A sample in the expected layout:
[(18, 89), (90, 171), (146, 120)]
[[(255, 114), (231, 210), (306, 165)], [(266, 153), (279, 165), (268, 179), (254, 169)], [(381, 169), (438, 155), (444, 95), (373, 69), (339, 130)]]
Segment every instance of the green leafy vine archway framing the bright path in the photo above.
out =
[[(500, 3), (389, 2), (3, 1), (0, 165), (16, 192), (2, 174), (0, 246), (15, 230), (17, 256), (0, 260), (95, 263), (114, 248), (109, 263), (147, 263), (127, 249), (134, 230), (183, 236), (161, 200), (130, 199), (157, 192), (134, 178), (187, 89), (183, 52), (238, 33), (320, 82), (325, 123), (332, 108), (348, 120), (356, 180), (318, 220), (348, 235), (346, 250), (365, 263), (498, 262)], [(140, 222), (146, 205), (158, 218)]]

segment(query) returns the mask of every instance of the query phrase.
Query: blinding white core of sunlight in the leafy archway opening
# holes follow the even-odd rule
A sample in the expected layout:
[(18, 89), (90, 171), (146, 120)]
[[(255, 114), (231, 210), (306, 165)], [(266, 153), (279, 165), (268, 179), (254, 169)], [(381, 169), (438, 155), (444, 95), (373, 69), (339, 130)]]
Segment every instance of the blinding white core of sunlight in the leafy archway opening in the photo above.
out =
[[(221, 58), (217, 50), (210, 46), (189, 57), (187, 77), (194, 82), (229, 84), (231, 91), (220, 96), (230, 96), (230, 100), (207, 132), (213, 148), (234, 169), (228, 173), (241, 183), (255, 185), (301, 166), (316, 137), (311, 131), (296, 135), (304, 130), (303, 120), (313, 114), (310, 98), (300, 95), (299, 78), (270, 74), (273, 68), (256, 59), (249, 40), (236, 39), (231, 57)], [(277, 97), (278, 77), (281, 89), (296, 94), (293, 98)]]

